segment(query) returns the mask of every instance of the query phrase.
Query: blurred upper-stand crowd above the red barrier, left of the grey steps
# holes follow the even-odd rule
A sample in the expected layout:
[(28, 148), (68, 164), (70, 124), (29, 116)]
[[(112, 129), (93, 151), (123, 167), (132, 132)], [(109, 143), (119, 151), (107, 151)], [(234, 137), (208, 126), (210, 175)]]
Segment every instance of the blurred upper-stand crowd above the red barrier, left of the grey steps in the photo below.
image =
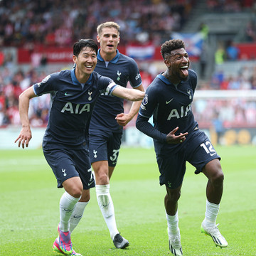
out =
[(42, 43), (69, 47), (80, 38), (96, 38), (97, 25), (110, 20), (120, 25), (121, 44), (142, 38), (159, 45), (172, 31), (180, 30), (195, 3), (195, 0), (1, 0), (0, 46), (30, 48)]

